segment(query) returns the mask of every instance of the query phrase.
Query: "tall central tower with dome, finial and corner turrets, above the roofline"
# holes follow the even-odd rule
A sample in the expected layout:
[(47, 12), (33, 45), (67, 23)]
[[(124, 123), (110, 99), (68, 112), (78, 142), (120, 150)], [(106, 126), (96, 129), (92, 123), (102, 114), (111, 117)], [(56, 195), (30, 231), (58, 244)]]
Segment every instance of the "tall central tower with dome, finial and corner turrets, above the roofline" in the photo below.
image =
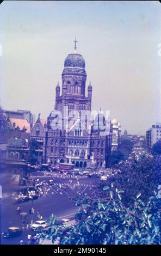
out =
[(91, 110), (92, 86), (88, 86), (88, 96), (85, 96), (85, 60), (83, 56), (77, 52), (77, 40), (72, 53), (68, 54), (64, 61), (64, 69), (61, 74), (62, 90), (60, 96), (60, 87), (56, 87), (55, 110), (63, 113), (64, 106), (69, 111), (75, 109), (77, 111)]

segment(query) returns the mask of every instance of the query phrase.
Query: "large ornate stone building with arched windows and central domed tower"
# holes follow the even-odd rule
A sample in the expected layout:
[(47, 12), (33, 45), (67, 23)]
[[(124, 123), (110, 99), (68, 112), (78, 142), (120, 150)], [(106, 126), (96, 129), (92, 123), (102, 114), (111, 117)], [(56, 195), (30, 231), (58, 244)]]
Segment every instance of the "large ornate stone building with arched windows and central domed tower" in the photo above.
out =
[[(40, 139), (43, 141), (41, 154), (45, 163), (74, 163), (76, 167), (85, 168), (91, 160), (98, 167), (105, 167), (110, 155), (112, 126), (108, 135), (101, 135), (100, 130), (94, 128), (92, 121), (90, 125), (86, 122), (82, 124), (82, 112), (91, 111), (92, 86), (90, 83), (87, 88), (88, 94), (85, 96), (85, 61), (76, 47), (66, 57), (61, 77), (61, 95), (58, 83), (55, 88), (54, 106), (54, 111), (60, 111), (62, 114), (61, 127), (56, 127), (60, 125), (59, 118), (51, 112), (45, 125), (42, 125), (40, 117), (38, 118), (30, 135), (37, 141)], [(68, 108), (66, 113), (64, 107)], [(74, 121), (72, 121), (72, 111), (79, 113), (79, 117)], [(98, 114), (96, 118), (99, 117)], [(66, 119), (69, 121), (68, 127), (66, 127)], [(103, 121), (106, 125), (107, 120)], [(56, 124), (54, 129), (53, 122)]]

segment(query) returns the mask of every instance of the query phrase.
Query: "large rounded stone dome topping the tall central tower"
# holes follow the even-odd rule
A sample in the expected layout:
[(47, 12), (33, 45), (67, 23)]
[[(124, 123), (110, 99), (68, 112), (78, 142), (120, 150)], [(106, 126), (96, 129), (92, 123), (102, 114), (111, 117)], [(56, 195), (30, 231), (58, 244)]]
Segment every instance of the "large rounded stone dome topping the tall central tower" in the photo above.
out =
[(81, 68), (85, 69), (85, 60), (76, 50), (68, 54), (64, 62), (64, 68)]

